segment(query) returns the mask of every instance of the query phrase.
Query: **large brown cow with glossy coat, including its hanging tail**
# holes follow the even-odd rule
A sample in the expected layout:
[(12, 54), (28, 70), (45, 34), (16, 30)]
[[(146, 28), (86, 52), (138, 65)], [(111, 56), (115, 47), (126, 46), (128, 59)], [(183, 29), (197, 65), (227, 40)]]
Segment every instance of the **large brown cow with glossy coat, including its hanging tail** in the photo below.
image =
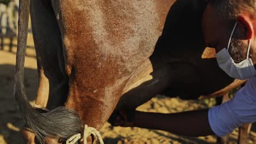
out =
[[(100, 130), (122, 95), (129, 103), (120, 105), (138, 99), (134, 108), (158, 93), (196, 99), (241, 83), (232, 83), (212, 52), (202, 57), (208, 50), (201, 32), (206, 1), (19, 4), (14, 94), (27, 143), (65, 143), (82, 135), (84, 124)], [(39, 74), (36, 107), (26, 100), (23, 84), (29, 7)], [(149, 79), (139, 81), (142, 77)]]

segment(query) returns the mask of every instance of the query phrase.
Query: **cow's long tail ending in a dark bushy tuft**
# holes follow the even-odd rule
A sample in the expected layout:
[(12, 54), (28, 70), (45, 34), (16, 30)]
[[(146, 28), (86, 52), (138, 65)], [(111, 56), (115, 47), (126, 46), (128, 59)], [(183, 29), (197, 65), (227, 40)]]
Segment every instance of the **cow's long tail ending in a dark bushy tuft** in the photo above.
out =
[(28, 127), (37, 137), (37, 143), (44, 143), (44, 137), (68, 139), (70, 136), (81, 133), (83, 124), (77, 113), (57, 107), (46, 113), (39, 113), (28, 102), (24, 86), (24, 61), (27, 44), (28, 17), (30, 0), (19, 2), (19, 34), (16, 55), (16, 71), (14, 95), (22, 116)]

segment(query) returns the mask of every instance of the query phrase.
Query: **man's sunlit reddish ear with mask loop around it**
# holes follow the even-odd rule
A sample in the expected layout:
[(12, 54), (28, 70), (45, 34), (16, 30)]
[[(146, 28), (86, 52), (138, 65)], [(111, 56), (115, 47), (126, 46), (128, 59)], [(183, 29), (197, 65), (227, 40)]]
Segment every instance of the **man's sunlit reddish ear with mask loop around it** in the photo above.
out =
[(254, 30), (252, 21), (245, 15), (237, 16), (237, 25), (239, 27), (238, 39), (248, 40), (252, 39)]

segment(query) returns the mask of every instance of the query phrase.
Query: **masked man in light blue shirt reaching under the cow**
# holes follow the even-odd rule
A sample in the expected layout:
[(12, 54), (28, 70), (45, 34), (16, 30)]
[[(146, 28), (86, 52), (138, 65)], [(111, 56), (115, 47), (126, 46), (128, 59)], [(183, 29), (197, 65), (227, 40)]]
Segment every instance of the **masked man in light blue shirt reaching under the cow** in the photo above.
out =
[(123, 118), (117, 117), (114, 125), (186, 136), (224, 136), (256, 121), (256, 0), (208, 1), (202, 31), (205, 43), (216, 49), (219, 67), (235, 79), (249, 79), (235, 98), (210, 110), (171, 114), (136, 111), (132, 122), (120, 111)]

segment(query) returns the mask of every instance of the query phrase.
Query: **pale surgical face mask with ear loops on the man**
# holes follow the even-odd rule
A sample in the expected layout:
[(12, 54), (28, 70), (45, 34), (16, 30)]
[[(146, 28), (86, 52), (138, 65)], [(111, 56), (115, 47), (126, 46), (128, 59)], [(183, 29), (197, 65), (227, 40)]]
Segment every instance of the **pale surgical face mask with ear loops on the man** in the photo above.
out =
[(252, 40), (249, 40), (248, 48), (247, 48), (247, 58), (240, 62), (235, 63), (232, 57), (229, 54), (229, 46), (231, 42), (232, 35), (234, 34), (237, 22), (233, 28), (233, 31), (230, 35), (228, 49), (222, 49), (216, 54), (217, 62), (219, 67), (225, 71), (230, 77), (239, 80), (245, 80), (256, 76), (256, 70), (254, 68), (252, 59), (249, 58), (249, 51), (251, 47)]

